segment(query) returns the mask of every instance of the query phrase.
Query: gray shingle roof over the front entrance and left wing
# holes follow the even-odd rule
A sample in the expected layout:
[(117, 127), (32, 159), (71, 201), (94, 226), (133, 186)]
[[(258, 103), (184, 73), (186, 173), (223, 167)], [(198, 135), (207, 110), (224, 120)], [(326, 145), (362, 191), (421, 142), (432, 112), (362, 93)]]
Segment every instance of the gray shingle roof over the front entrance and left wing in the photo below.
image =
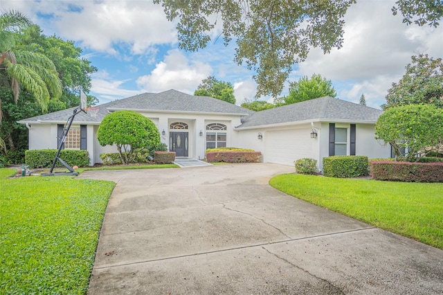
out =
[[(175, 111), (192, 113), (214, 114), (237, 114), (245, 116), (254, 111), (244, 109), (229, 102), (224, 102), (208, 96), (190, 96), (176, 90), (168, 90), (161, 93), (143, 93), (121, 100), (115, 100), (103, 105), (98, 105), (98, 114), (92, 117), (89, 114), (80, 113), (75, 116), (74, 123), (100, 123), (109, 114), (109, 111), (118, 109), (136, 109), (144, 111)], [(64, 123), (73, 114), (74, 108), (55, 111), (51, 114), (36, 116), (20, 120), (19, 123), (54, 122)]]

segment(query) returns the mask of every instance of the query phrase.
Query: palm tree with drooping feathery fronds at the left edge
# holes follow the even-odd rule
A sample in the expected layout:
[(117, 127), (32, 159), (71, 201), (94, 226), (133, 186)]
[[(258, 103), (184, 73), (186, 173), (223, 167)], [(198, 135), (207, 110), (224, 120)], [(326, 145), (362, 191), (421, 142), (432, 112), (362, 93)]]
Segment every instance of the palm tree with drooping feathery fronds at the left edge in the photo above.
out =
[[(7, 85), (17, 103), (20, 87), (32, 93), (42, 111), (48, 110), (48, 101), (62, 96), (62, 84), (57, 69), (48, 57), (31, 51), (13, 51), (19, 30), (32, 22), (21, 12), (0, 13), (0, 85)], [(3, 118), (0, 98), (0, 123)]]

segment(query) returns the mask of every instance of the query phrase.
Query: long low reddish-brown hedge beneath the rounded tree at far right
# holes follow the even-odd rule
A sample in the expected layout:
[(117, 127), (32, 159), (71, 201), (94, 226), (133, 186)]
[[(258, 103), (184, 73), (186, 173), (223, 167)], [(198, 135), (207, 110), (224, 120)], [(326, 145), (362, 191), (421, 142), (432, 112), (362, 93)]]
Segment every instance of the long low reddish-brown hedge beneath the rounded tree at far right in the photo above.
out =
[(443, 182), (443, 162), (370, 161), (370, 175), (377, 180)]

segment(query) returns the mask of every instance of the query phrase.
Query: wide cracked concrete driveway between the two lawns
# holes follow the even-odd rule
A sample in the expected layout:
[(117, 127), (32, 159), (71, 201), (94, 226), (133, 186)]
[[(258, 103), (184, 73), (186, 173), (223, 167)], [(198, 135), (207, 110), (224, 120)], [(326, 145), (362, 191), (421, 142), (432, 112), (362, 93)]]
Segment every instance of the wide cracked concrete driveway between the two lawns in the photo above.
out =
[(117, 183), (89, 294), (442, 294), (443, 251), (268, 185), (287, 172), (257, 163), (82, 173)]

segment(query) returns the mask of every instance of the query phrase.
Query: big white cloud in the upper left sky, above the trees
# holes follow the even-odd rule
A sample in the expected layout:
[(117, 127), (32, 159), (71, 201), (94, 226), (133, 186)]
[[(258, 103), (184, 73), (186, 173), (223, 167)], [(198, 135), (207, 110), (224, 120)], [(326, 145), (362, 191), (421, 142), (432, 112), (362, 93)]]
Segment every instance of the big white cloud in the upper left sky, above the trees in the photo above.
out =
[(2, 1), (26, 12), (46, 34), (55, 30), (93, 51), (118, 55), (126, 48), (138, 55), (152, 46), (177, 42), (175, 24), (151, 1)]

